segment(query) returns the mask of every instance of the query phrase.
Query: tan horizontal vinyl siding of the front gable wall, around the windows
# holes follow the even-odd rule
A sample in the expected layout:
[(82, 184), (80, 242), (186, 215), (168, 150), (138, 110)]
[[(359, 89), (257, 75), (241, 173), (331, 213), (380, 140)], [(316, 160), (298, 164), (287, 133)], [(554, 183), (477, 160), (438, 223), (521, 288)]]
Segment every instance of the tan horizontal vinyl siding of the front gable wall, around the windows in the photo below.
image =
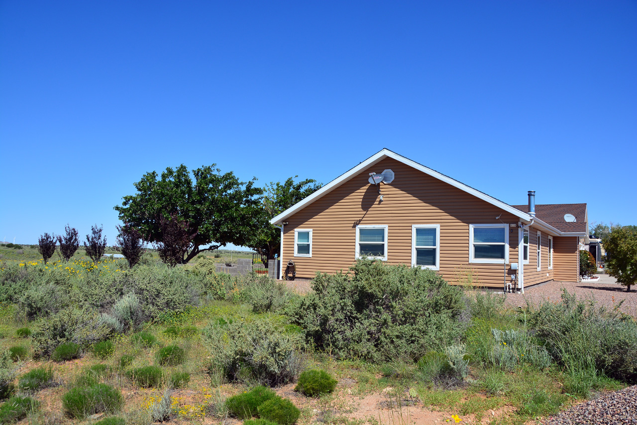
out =
[[(391, 184), (369, 184), (369, 172), (394, 170)], [(500, 216), (496, 220), (496, 216)], [(296, 276), (347, 271), (355, 261), (357, 225), (387, 225), (387, 263), (411, 264), (412, 225), (440, 225), (440, 274), (454, 283), (473, 271), (480, 285), (503, 287), (510, 264), (469, 264), (469, 225), (517, 223), (513, 214), (443, 183), (399, 161), (385, 158), (318, 198), (287, 219), (282, 260), (296, 264)], [(294, 229), (312, 229), (312, 257), (294, 257)], [(507, 227), (509, 260), (517, 262), (517, 228)], [(505, 277), (506, 276), (506, 277)]]

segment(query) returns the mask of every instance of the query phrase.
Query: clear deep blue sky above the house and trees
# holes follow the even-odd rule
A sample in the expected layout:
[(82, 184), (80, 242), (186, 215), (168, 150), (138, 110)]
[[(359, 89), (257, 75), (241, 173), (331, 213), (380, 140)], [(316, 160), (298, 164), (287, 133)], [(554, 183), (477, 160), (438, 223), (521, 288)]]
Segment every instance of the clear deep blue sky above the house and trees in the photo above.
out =
[(0, 1), (0, 240), (152, 170), (327, 183), (383, 147), (637, 224), (635, 1)]

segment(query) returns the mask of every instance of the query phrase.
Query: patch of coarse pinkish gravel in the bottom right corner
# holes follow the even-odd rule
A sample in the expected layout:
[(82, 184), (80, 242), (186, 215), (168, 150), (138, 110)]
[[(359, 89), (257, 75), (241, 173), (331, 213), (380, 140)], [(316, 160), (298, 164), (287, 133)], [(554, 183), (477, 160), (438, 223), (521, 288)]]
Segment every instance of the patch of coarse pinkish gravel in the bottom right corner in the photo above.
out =
[(586, 401), (557, 416), (544, 425), (624, 425), (637, 424), (637, 385)]

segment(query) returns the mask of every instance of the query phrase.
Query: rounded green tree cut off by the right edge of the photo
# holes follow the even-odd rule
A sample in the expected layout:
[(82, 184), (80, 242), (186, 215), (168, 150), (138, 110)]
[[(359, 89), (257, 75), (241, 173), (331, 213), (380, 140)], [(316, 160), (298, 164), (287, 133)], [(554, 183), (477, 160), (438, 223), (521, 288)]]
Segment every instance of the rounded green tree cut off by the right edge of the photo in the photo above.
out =
[(631, 290), (637, 285), (637, 226), (613, 226), (602, 239), (606, 250), (606, 273)]

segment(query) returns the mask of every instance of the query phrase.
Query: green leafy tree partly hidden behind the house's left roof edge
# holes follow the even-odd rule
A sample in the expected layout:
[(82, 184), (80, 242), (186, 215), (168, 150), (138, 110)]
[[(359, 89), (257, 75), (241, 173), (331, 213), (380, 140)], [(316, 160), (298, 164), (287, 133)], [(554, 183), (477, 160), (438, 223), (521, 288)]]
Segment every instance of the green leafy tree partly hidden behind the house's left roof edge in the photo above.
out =
[(281, 230), (269, 221), (277, 214), (283, 213), (286, 209), (296, 204), (300, 200), (310, 196), (321, 188), (322, 184), (316, 180), (305, 179), (294, 183), (298, 177), (289, 177), (285, 183), (270, 183), (264, 188), (264, 196), (261, 200), (261, 208), (257, 218), (257, 227), (250, 234), (250, 239), (245, 246), (252, 248), (261, 255), (265, 262), (268, 258), (274, 258), (275, 254), (280, 255), (281, 250)]

